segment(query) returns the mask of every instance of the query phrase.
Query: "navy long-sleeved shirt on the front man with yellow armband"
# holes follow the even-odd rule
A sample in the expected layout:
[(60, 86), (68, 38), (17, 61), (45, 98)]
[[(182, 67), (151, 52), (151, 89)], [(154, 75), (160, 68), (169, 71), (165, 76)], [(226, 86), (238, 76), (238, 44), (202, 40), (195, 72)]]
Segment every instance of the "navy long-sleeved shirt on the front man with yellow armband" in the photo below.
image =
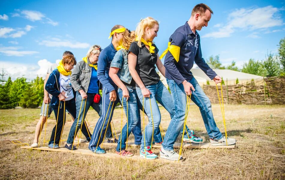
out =
[(194, 34), (187, 22), (175, 30), (170, 36), (169, 42), (180, 47), (180, 54), (177, 62), (173, 55), (169, 51), (167, 52), (164, 60), (165, 77), (167, 79), (172, 79), (177, 84), (192, 79), (193, 75), (190, 70), (194, 61), (210, 79), (217, 76), (202, 58), (199, 34), (197, 31)]

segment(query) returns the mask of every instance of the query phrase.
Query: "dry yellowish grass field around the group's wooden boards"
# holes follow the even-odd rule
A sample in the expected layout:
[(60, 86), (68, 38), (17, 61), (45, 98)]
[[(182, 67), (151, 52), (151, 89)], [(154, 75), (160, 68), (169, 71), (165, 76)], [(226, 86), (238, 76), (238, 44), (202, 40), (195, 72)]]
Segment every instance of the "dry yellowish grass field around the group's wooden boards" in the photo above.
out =
[[(215, 104), (212, 109), (217, 126), (224, 134), (220, 106)], [(285, 106), (226, 105), (227, 134), (236, 138), (238, 147), (183, 149), (186, 160), (179, 163), (20, 149), (19, 145), (11, 143), (19, 139), (32, 144), (39, 113), (40, 109), (0, 110), (0, 179), (285, 179)], [(119, 134), (121, 110), (117, 108), (114, 114)], [(166, 131), (170, 116), (162, 107), (161, 114)], [(54, 114), (50, 119), (55, 119)], [(87, 119), (93, 129), (98, 115), (89, 110)], [(48, 122), (46, 140), (54, 125)], [(65, 125), (65, 140), (70, 125)], [(187, 125), (204, 142), (208, 141), (199, 108), (195, 105), (190, 106)], [(43, 137), (44, 134), (41, 142)], [(129, 141), (133, 139), (131, 135)], [(181, 136), (177, 142), (181, 142)], [(80, 148), (88, 149), (86, 145)], [(104, 146), (104, 149), (115, 152), (112, 146)], [(130, 147), (129, 150), (139, 155), (139, 148)], [(159, 154), (159, 149), (153, 150)]]

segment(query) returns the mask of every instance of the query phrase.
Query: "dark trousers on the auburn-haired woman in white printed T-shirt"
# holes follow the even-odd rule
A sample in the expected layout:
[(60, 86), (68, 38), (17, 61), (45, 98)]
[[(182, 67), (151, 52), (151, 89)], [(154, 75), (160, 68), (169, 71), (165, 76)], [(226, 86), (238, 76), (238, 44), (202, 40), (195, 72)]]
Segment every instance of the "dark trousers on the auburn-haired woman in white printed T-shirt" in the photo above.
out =
[[(55, 125), (56, 127), (56, 132), (55, 132), (55, 127), (52, 129), (52, 135), (50, 137), (49, 140), (49, 144), (55, 143), (58, 144), (60, 141), (60, 135), (61, 135), (61, 131), (62, 128), (65, 124), (65, 118), (66, 118), (66, 112), (65, 112), (65, 116), (63, 117), (63, 113), (64, 113), (64, 101), (60, 101), (59, 102), (59, 111), (58, 111), (58, 106), (53, 108), (53, 112), (55, 114), (55, 118), (57, 118), (58, 116), (58, 120), (57, 120), (57, 125)], [(71, 116), (73, 116), (73, 118), (76, 117), (76, 104), (75, 104), (75, 98), (69, 100), (69, 101), (65, 101), (65, 109), (70, 113)], [(64, 121), (64, 123), (63, 123)], [(84, 131), (84, 129), (82, 128), (82, 132)], [(86, 128), (85, 128), (86, 131)], [(54, 138), (55, 137), (55, 138)]]

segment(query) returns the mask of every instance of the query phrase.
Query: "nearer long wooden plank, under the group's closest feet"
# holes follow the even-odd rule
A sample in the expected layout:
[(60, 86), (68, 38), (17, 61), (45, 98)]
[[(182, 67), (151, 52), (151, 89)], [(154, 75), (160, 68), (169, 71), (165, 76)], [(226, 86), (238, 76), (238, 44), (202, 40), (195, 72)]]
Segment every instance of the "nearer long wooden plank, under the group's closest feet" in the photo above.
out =
[[(94, 152), (91, 152), (88, 149), (77, 149), (77, 150), (68, 150), (66, 148), (58, 148), (58, 149), (50, 149), (48, 147), (39, 147), (39, 148), (32, 148), (31, 146), (21, 146), (22, 149), (35, 149), (35, 150), (42, 150), (42, 151), (55, 151), (55, 152), (67, 152), (67, 153), (73, 153), (73, 154), (82, 154), (82, 155), (91, 155), (91, 156), (95, 156), (95, 157), (102, 157), (102, 158), (127, 158), (127, 159), (131, 159), (131, 160), (135, 160), (135, 161), (149, 161), (143, 158), (140, 158), (140, 156), (138, 155), (134, 155), (131, 157), (122, 157), (119, 155), (116, 155), (115, 153), (110, 153), (107, 152), (106, 154), (96, 154)], [(153, 161), (158, 161), (158, 162), (164, 162), (164, 163), (176, 163), (176, 162), (181, 162), (184, 161), (185, 158), (183, 160), (180, 161), (171, 161), (171, 160), (167, 160), (167, 159), (163, 159), (163, 158), (158, 158), (155, 159)]]

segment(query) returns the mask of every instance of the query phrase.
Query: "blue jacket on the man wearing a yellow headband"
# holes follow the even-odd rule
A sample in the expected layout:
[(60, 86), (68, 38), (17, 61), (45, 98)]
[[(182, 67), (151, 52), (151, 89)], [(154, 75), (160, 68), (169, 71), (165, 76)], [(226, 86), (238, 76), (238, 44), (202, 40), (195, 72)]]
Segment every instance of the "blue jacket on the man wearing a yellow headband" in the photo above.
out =
[(98, 59), (98, 69), (97, 77), (104, 87), (107, 88), (109, 92), (117, 90), (118, 86), (113, 82), (109, 76), (110, 64), (116, 54), (116, 49), (111, 43), (109, 46), (105, 47)]

